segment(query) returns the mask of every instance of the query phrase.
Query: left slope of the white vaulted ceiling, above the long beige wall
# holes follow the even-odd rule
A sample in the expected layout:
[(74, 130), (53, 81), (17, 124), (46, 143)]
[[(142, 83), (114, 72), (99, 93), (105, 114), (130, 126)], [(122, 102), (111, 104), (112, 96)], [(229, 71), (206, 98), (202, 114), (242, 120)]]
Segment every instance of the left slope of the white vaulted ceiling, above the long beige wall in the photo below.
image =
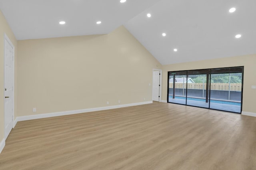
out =
[(158, 1), (0, 0), (0, 9), (17, 40), (26, 40), (108, 34)]

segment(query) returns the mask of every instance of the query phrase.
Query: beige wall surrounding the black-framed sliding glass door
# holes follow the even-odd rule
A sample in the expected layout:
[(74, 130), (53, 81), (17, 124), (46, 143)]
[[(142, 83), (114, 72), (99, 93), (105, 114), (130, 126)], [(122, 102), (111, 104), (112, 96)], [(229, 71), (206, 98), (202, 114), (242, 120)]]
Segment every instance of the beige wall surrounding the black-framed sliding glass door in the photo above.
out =
[(246, 112), (256, 113), (256, 89), (252, 89), (252, 85), (256, 85), (256, 54), (240, 57), (227, 57), (221, 59), (212, 59), (204, 61), (195, 61), (189, 63), (178, 63), (171, 65), (163, 65), (163, 85), (162, 100), (167, 100), (167, 76), (168, 71), (190, 70), (190, 69), (207, 69), (220, 67), (244, 66), (244, 89), (243, 89), (243, 106), (242, 110)]

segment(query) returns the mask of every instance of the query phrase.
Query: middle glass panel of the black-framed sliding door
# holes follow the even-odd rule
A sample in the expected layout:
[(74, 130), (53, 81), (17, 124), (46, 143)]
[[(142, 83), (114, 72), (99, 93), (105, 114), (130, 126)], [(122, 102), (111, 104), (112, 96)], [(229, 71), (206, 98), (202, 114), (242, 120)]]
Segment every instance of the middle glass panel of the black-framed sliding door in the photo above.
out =
[(209, 108), (209, 93), (206, 93), (206, 82), (207, 74), (188, 75), (187, 105)]

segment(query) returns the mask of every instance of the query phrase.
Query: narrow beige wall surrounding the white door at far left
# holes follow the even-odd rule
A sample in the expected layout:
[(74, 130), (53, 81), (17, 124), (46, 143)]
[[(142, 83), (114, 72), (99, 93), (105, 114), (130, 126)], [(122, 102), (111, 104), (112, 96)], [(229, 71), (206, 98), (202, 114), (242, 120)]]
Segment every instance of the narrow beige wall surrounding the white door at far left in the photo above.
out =
[[(8, 26), (8, 23), (6, 22), (4, 15), (0, 11), (0, 142), (4, 138), (4, 33), (8, 36), (8, 38), (11, 40), (12, 44), (14, 45), (15, 51), (14, 51), (14, 71), (15, 71), (15, 101), (14, 103), (17, 103), (17, 97), (16, 97), (16, 92), (17, 92), (17, 40), (12, 33), (12, 30)], [(16, 105), (14, 107), (15, 115), (17, 113), (17, 108)]]

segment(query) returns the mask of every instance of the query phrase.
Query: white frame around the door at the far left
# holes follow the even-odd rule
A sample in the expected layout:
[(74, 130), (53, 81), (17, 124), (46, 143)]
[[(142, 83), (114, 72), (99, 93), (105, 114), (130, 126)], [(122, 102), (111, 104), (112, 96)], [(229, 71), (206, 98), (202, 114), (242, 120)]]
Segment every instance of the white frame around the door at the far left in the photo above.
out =
[[(12, 128), (14, 128), (14, 103), (15, 103), (15, 100), (14, 100), (14, 92), (15, 92), (15, 86), (14, 86), (14, 84), (15, 84), (15, 82), (14, 82), (14, 80), (15, 80), (15, 78), (14, 78), (14, 75), (15, 75), (15, 72), (14, 72), (14, 60), (15, 60), (15, 47), (14, 47), (14, 45), (13, 45), (13, 43), (11, 42), (11, 40), (8, 38), (8, 36), (6, 35), (6, 33), (4, 33), (4, 88), (5, 88), (5, 51), (6, 51), (6, 48), (5, 48), (5, 43), (6, 43), (6, 41), (8, 42), (8, 43), (10, 43), (10, 45), (12, 46), (12, 49), (13, 49), (13, 61), (12, 61), (12, 75), (13, 75), (13, 80), (12, 80), (12, 82), (13, 82), (13, 93), (12, 93)], [(3, 89), (4, 90), (4, 89)], [(3, 96), (3, 98), (4, 98), (4, 96)], [(5, 98), (4, 98), (5, 99)], [(5, 102), (5, 100), (4, 100), (4, 102)], [(5, 113), (5, 105), (4, 105), (4, 127), (5, 127), (5, 119), (6, 119), (6, 113)], [(4, 136), (6, 136), (6, 129), (4, 128)]]

